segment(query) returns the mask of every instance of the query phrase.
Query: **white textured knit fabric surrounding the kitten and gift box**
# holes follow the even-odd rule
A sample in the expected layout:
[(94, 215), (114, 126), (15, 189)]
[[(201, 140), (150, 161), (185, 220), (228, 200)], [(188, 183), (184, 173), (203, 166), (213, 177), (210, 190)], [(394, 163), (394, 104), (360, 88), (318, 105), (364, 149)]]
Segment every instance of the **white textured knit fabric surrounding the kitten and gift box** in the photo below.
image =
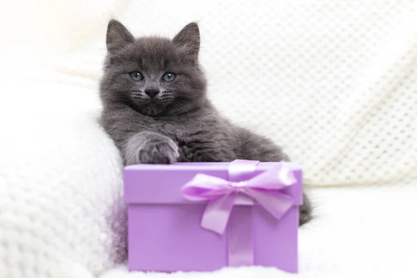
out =
[[(0, 277), (94, 277), (124, 249), (120, 157), (96, 121), (111, 17), (135, 35), (174, 35), (197, 20), (220, 111), (283, 145), (316, 188), (341, 187), (313, 190), (318, 220), (300, 231), (301, 275), (407, 277), (417, 247), (416, 5), (2, 1)], [(384, 183), (393, 186), (342, 187)]]

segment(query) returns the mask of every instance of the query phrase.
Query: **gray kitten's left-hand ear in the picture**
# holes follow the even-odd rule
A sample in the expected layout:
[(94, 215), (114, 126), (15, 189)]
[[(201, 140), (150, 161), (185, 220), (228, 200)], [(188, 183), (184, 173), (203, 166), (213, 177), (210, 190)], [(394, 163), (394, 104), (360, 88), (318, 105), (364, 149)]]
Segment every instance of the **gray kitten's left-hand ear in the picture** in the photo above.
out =
[(135, 41), (133, 35), (127, 30), (127, 28), (116, 19), (111, 19), (107, 26), (106, 46), (107, 51), (113, 53), (118, 49), (121, 49), (126, 44)]

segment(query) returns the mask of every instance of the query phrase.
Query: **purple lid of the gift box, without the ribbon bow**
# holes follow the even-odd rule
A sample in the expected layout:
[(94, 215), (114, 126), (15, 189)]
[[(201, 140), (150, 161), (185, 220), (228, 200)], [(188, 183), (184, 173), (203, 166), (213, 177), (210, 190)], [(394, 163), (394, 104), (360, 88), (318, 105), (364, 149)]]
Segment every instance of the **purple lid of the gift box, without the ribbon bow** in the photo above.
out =
[[(296, 205), (302, 204), (302, 171), (297, 163), (286, 163), (297, 182), (282, 193), (290, 195)], [(124, 167), (124, 200), (126, 204), (195, 204), (185, 199), (181, 188), (196, 174), (229, 179), (230, 163), (175, 163), (172, 165), (138, 164)], [(277, 163), (259, 163), (250, 177), (275, 167)], [(244, 204), (244, 202), (242, 203)]]

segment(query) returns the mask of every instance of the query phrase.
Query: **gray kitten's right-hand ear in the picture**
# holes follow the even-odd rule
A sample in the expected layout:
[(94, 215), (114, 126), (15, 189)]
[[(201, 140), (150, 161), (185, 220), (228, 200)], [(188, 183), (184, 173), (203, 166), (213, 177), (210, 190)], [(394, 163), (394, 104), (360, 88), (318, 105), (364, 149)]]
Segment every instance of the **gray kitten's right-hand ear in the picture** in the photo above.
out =
[(181, 48), (187, 56), (197, 61), (199, 51), (199, 28), (197, 23), (191, 22), (187, 24), (181, 31), (175, 36), (172, 42)]

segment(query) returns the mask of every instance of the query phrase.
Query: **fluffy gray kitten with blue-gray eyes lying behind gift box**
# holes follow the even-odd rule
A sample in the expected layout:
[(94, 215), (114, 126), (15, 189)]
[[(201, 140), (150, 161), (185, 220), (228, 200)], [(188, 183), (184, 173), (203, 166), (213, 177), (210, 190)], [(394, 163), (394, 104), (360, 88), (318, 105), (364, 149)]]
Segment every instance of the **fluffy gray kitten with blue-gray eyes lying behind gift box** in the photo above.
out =
[[(100, 97), (101, 125), (124, 163), (288, 161), (271, 140), (231, 124), (206, 96), (199, 66), (199, 28), (185, 26), (174, 39), (134, 38), (117, 20), (107, 28)], [(300, 224), (311, 219), (304, 195)]]

